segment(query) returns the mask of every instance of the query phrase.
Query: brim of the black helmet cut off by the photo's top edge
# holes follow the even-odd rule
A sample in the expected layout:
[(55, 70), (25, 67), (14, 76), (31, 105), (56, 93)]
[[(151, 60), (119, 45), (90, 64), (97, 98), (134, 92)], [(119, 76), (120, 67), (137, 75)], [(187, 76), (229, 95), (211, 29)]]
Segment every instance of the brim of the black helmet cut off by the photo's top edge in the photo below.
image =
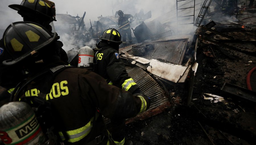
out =
[(35, 14), (41, 15), (41, 16), (43, 16), (43, 17), (45, 17), (45, 18), (48, 18), (48, 19), (50, 19), (50, 20), (57, 21), (55, 18), (52, 18), (52, 17), (50, 17), (50, 16), (48, 16), (48, 15), (45, 15), (44, 13), (41, 13), (41, 12), (39, 12), (39, 11), (30, 9), (30, 8), (25, 7), (25, 6), (23, 6), (23, 5), (13, 4), (13, 5), (9, 5), (8, 7), (12, 8), (12, 9), (14, 9), (14, 10), (16, 10), (16, 11), (24, 11), (24, 12), (29, 12), (29, 13), (35, 13)]

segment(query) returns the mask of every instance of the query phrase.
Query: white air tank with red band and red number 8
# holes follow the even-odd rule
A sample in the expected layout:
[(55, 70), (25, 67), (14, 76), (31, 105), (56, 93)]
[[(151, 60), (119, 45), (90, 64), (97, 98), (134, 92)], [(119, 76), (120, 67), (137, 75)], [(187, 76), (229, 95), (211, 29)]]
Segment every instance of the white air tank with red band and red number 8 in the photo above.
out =
[(78, 67), (90, 67), (93, 63), (94, 51), (89, 46), (84, 46), (78, 51)]

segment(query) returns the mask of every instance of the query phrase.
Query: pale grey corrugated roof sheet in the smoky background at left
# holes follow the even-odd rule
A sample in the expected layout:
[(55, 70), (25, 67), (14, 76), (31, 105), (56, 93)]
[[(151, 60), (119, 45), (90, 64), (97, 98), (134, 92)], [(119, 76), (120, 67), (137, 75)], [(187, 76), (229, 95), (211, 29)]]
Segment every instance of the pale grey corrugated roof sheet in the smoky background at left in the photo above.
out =
[(56, 14), (56, 20), (53, 21), (54, 26), (64, 24), (78, 24), (78, 21), (71, 15), (68, 14)]

